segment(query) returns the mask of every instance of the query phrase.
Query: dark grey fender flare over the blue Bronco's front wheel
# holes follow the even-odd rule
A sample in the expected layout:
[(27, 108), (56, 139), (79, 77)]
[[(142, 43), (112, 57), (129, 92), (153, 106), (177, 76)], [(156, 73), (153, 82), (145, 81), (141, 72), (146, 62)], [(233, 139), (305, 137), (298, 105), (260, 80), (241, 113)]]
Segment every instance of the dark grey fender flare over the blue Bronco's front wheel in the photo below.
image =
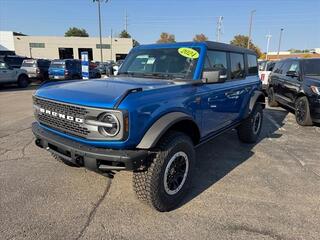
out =
[(150, 149), (155, 147), (159, 139), (171, 126), (183, 120), (191, 120), (194, 122), (191, 116), (183, 112), (170, 112), (163, 115), (147, 130), (137, 148)]

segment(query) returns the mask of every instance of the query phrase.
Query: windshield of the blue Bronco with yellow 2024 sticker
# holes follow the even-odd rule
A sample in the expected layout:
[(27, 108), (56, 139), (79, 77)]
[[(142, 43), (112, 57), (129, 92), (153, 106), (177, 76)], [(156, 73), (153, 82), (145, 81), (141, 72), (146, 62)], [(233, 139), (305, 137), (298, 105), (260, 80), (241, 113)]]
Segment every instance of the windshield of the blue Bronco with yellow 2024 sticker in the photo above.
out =
[(193, 79), (200, 48), (136, 49), (126, 58), (119, 74), (163, 79)]

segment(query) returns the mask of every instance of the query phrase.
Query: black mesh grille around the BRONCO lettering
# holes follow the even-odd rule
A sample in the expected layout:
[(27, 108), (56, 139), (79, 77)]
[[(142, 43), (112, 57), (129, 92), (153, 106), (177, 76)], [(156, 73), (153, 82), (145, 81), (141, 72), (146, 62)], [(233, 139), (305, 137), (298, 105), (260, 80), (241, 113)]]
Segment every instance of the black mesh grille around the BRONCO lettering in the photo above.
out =
[[(63, 114), (65, 116), (72, 116), (74, 119), (85, 119), (85, 116), (88, 113), (88, 111), (84, 107), (58, 103), (55, 101), (44, 100), (37, 97), (33, 98), (33, 102), (37, 108), (42, 108), (50, 112)], [(90, 133), (88, 128), (86, 128), (83, 123), (70, 121), (66, 118), (60, 118), (58, 116), (52, 116), (50, 114), (42, 114), (40, 111), (37, 111), (36, 118), (41, 124), (76, 136), (85, 138)]]

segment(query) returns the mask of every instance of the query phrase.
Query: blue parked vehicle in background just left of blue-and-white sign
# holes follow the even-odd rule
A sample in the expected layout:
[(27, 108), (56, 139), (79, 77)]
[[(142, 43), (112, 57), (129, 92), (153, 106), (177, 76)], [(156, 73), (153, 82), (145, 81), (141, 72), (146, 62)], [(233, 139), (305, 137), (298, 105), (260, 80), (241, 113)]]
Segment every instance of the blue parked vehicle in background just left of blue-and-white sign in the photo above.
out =
[(78, 59), (52, 60), (49, 67), (49, 79), (81, 79), (81, 61)]

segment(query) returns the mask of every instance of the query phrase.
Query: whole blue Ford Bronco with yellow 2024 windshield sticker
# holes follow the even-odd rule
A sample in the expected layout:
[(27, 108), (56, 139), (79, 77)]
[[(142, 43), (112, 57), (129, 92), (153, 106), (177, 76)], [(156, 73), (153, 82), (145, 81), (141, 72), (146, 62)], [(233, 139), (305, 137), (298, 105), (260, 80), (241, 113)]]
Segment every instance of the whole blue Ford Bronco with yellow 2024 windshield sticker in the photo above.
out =
[(187, 194), (197, 146), (232, 128), (256, 142), (265, 106), (256, 54), (216, 42), (138, 46), (116, 77), (48, 82), (33, 101), (37, 146), (101, 174), (133, 171), (158, 211)]

